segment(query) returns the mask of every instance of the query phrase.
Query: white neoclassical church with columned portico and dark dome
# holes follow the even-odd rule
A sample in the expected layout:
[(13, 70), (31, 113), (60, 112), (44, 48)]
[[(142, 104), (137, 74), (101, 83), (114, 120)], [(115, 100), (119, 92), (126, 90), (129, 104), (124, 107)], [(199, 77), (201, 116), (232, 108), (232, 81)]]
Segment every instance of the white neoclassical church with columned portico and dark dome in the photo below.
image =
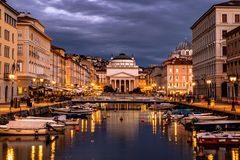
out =
[(111, 57), (106, 67), (108, 84), (119, 93), (128, 93), (138, 87), (139, 66), (134, 57), (125, 53)]

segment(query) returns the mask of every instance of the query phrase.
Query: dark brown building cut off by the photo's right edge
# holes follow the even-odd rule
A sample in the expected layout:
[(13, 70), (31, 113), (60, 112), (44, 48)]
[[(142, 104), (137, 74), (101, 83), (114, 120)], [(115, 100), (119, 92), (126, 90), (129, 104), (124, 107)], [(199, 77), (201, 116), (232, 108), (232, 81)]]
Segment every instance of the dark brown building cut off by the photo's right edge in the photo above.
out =
[[(227, 43), (227, 75), (228, 97), (234, 96), (240, 100), (240, 27), (237, 27), (225, 34)], [(231, 83), (230, 77), (236, 77), (236, 81)], [(234, 91), (234, 92), (233, 92)], [(234, 95), (233, 95), (234, 94)]]

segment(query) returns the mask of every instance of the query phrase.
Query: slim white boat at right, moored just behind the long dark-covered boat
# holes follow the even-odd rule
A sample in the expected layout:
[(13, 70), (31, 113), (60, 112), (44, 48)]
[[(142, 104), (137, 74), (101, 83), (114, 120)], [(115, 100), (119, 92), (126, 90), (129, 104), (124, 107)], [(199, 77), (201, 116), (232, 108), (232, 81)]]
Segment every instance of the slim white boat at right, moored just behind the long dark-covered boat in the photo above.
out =
[(203, 115), (189, 115), (181, 119), (183, 124), (196, 123), (204, 121), (226, 120), (228, 116), (203, 116)]

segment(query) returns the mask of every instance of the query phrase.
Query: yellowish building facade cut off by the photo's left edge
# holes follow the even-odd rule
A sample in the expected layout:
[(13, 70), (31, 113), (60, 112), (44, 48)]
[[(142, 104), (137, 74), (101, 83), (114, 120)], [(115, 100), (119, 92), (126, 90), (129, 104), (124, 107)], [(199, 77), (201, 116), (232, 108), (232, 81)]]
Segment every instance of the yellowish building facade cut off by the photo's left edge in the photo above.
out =
[[(5, 1), (0, 1), (0, 103), (9, 103), (17, 93), (17, 15)], [(13, 74), (14, 79), (9, 75)]]

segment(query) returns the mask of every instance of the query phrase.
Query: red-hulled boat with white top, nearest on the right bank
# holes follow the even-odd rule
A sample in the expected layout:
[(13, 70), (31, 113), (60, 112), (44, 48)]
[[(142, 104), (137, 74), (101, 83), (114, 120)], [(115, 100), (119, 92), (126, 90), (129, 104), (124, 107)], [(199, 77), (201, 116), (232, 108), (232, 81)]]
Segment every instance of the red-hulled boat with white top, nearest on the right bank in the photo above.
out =
[(203, 132), (197, 133), (200, 145), (240, 145), (240, 132)]

